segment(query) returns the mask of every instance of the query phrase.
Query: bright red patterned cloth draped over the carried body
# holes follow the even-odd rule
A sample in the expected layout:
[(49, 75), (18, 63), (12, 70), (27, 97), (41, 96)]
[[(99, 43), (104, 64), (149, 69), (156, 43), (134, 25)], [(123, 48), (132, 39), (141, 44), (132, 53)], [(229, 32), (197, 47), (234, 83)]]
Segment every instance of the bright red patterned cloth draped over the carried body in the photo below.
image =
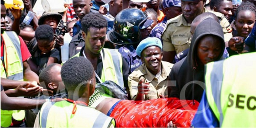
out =
[(147, 101), (122, 100), (111, 113), (116, 127), (167, 127), (172, 121), (177, 127), (190, 127), (199, 103), (178, 98)]

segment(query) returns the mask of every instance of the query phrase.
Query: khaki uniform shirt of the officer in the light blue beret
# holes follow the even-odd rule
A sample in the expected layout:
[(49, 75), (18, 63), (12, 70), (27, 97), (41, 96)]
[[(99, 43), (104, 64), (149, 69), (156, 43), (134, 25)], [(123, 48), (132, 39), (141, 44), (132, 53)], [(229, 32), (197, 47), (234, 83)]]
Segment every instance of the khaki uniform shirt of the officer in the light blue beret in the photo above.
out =
[(167, 78), (171, 72), (173, 64), (162, 61), (162, 73), (157, 79), (152, 73), (150, 73), (145, 64), (140, 65), (134, 70), (128, 77), (128, 87), (132, 99), (135, 99), (138, 93), (138, 83), (140, 79), (145, 79), (145, 82), (149, 82), (149, 92), (144, 95), (144, 99), (157, 99), (159, 95), (166, 96), (167, 94)]

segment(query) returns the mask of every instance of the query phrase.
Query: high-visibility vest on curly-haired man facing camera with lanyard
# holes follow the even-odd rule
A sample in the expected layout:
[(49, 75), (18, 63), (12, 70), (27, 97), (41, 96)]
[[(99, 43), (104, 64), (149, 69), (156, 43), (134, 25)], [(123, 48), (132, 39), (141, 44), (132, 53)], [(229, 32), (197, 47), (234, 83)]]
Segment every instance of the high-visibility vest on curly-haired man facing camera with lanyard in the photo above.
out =
[[(104, 50), (104, 55), (102, 50)], [(120, 87), (124, 88), (124, 81), (122, 76), (122, 55), (117, 49), (106, 49), (103, 48), (100, 51), (102, 56), (102, 82), (111, 80), (118, 84)], [(79, 57), (80, 52), (73, 57)], [(72, 58), (73, 58), (72, 57)]]

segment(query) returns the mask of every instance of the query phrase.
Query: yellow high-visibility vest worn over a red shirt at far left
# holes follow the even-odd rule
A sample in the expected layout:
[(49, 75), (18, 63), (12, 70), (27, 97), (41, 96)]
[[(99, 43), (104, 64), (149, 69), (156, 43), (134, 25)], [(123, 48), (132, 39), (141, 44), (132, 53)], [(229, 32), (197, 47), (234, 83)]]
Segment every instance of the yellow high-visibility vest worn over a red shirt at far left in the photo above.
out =
[[(3, 55), (7, 55), (7, 57), (4, 56), (4, 63), (8, 68), (7, 71), (9, 77), (7, 79), (23, 80), (23, 63), (20, 50), (20, 39), (15, 32), (3, 32), (2, 36), (5, 41), (4, 45), (6, 47), (6, 49), (4, 49)], [(8, 64), (6, 64), (6, 59)], [(1, 77), (6, 78), (2, 60)]]

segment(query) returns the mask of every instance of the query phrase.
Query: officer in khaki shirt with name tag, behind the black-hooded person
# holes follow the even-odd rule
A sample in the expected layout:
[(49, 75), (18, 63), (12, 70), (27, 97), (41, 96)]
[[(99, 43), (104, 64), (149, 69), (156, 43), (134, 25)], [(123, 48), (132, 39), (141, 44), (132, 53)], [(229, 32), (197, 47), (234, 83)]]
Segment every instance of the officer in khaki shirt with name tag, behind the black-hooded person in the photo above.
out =
[[(212, 12), (204, 8), (206, 0), (181, 0), (182, 15), (170, 19), (166, 23), (163, 32), (163, 60), (172, 63), (175, 54), (189, 48), (190, 45), (190, 25), (194, 18), (204, 12)], [(226, 27), (230, 25), (224, 15), (219, 12), (212, 12), (220, 18), (223, 28), (225, 42), (232, 38), (232, 33)], [(228, 45), (226, 44), (226, 47)]]

